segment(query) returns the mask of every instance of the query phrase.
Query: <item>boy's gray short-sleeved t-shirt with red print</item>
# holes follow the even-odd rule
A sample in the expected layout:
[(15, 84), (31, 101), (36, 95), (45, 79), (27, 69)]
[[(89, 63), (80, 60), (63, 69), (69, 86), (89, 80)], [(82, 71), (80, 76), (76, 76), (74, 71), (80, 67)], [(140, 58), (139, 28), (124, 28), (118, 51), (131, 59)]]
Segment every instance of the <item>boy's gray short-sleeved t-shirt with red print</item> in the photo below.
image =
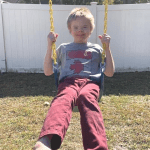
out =
[(56, 52), (59, 80), (75, 75), (89, 77), (99, 71), (102, 48), (98, 44), (63, 43)]

